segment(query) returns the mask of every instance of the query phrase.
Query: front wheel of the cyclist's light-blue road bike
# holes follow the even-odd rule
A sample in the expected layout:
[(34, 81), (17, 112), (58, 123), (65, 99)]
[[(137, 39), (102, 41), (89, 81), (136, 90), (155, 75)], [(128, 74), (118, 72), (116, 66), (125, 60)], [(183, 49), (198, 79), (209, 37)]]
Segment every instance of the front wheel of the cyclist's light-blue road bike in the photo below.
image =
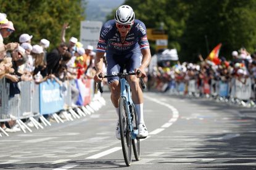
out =
[(131, 131), (128, 126), (128, 105), (125, 98), (120, 98), (119, 101), (119, 124), (120, 136), (123, 150), (123, 158), (126, 166), (131, 165)]

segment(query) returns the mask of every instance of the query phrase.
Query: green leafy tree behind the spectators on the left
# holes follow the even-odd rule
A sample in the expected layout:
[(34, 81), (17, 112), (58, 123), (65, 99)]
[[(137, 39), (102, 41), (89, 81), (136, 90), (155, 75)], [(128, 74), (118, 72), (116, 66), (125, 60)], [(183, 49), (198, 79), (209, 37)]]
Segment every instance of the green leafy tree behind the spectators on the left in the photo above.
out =
[(15, 32), (9, 37), (9, 42), (18, 42), (23, 33), (33, 35), (32, 44), (38, 44), (46, 38), (51, 42), (51, 48), (60, 43), (60, 31), (65, 22), (70, 23), (67, 37), (80, 36), (80, 21), (85, 14), (81, 0), (0, 0), (1, 12), (14, 23)]

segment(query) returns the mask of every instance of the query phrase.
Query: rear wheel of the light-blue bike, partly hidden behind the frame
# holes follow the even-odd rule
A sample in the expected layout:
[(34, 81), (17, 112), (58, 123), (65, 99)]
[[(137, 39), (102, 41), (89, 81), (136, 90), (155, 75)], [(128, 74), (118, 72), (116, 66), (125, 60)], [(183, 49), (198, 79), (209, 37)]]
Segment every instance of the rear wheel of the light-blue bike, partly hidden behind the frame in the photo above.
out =
[[(133, 130), (138, 130), (138, 117), (134, 104), (131, 106), (131, 115), (133, 117)], [(139, 142), (139, 138), (136, 137), (136, 139), (132, 139), (131, 143), (133, 144), (133, 153), (135, 160), (139, 161), (139, 159), (141, 158), (141, 144)]]

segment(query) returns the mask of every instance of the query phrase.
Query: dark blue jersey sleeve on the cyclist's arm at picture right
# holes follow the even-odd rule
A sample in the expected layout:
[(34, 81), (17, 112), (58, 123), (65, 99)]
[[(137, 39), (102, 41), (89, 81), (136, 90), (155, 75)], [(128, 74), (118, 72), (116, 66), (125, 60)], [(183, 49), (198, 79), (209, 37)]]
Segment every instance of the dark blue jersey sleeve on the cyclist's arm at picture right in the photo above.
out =
[(149, 48), (149, 41), (147, 40), (147, 29), (144, 23), (139, 22), (136, 25), (136, 28), (138, 29), (138, 44), (139, 48), (144, 49), (144, 48)]

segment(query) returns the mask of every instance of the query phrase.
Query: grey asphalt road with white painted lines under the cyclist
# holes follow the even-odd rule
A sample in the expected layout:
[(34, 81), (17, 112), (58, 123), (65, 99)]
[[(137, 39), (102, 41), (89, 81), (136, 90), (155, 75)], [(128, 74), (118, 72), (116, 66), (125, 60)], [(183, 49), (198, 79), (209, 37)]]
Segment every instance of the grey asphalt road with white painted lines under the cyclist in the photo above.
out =
[(256, 169), (256, 110), (210, 99), (144, 93), (149, 137), (125, 166), (107, 104), (72, 122), (0, 137), (0, 169)]

